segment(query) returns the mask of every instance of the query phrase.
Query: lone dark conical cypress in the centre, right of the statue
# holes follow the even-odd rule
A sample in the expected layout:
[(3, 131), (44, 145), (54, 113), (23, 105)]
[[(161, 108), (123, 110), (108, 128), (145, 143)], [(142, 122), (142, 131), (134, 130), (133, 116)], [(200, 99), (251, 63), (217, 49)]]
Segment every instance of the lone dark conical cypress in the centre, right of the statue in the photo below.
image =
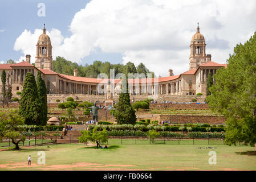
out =
[[(123, 79), (123, 81), (125, 81)], [(123, 84), (122, 84), (123, 85)], [(115, 118), (119, 125), (122, 124), (135, 124), (136, 114), (135, 110), (131, 106), (131, 101), (128, 93), (128, 81), (126, 79), (126, 92), (122, 89), (119, 100), (116, 105)]]

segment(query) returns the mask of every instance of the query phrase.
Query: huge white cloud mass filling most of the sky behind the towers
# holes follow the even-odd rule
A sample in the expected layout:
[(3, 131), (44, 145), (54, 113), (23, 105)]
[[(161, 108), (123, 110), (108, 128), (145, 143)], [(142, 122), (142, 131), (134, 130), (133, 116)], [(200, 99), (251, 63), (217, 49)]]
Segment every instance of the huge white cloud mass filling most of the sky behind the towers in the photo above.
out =
[[(212, 54), (213, 61), (225, 63), (233, 47), (256, 30), (255, 7), (254, 0), (92, 0), (74, 15), (70, 37), (63, 38), (54, 28), (47, 34), (54, 57), (82, 63), (100, 48), (121, 53), (123, 63), (142, 62), (151, 71), (167, 76), (168, 69), (175, 74), (189, 69), (189, 44), (197, 22), (208, 44), (206, 53)], [(38, 29), (34, 34), (23, 31), (14, 49), (35, 57), (40, 34)]]

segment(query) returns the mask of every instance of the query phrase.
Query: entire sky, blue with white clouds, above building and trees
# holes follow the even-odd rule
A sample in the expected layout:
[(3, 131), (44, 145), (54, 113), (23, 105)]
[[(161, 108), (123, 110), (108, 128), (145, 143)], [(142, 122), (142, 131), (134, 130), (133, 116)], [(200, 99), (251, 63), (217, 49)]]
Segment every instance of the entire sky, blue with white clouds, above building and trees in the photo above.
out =
[[(38, 16), (38, 3), (46, 16)], [(212, 61), (226, 63), (256, 31), (254, 0), (21, 0), (0, 1), (0, 61), (35, 60), (46, 23), (52, 56), (78, 64), (144, 63), (156, 75), (188, 71), (197, 22)], [(14, 50), (15, 49), (15, 50)]]

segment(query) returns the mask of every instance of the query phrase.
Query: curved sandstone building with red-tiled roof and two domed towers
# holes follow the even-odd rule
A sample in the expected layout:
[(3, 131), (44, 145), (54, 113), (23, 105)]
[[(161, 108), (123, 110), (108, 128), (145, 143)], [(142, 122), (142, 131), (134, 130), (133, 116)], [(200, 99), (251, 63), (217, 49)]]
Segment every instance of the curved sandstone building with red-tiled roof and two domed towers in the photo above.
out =
[[(155, 100), (181, 101), (178, 98), (196, 96), (197, 93), (206, 95), (206, 80), (208, 73), (212, 75), (221, 67), (227, 64), (218, 64), (211, 60), (211, 55), (206, 54), (206, 43), (204, 36), (197, 26), (196, 34), (190, 42), (189, 70), (180, 75), (173, 75), (169, 69), (168, 77), (159, 78), (133, 78), (128, 79), (129, 93), (131, 100), (143, 100), (151, 97)], [(51, 39), (43, 28), (43, 34), (39, 36), (36, 43), (35, 66), (31, 64), (31, 56), (26, 55), (26, 61), (17, 64), (0, 64), (0, 71), (5, 69), (6, 77), (9, 76), (9, 83), (12, 92), (22, 92), (25, 75), (31, 72), (35, 78), (41, 72), (46, 83), (49, 102), (54, 102), (55, 97), (66, 99), (74, 94), (82, 100), (117, 100), (121, 88), (121, 79), (109, 80), (107, 78), (78, 77), (78, 70), (74, 70), (74, 76), (63, 75), (52, 71), (52, 46)], [(214, 80), (213, 80), (214, 81)], [(2, 82), (0, 83), (2, 86)], [(99, 90), (103, 90), (99, 92)], [(188, 97), (188, 98), (191, 98)]]

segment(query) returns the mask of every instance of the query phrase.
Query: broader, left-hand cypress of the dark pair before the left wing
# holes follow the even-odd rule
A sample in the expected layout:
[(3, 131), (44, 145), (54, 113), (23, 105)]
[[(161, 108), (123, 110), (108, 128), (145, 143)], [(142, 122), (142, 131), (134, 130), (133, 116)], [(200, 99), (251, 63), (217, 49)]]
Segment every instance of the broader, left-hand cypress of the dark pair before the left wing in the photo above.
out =
[(28, 72), (19, 101), (19, 117), (25, 118), (26, 125), (40, 125), (40, 102), (35, 76)]

